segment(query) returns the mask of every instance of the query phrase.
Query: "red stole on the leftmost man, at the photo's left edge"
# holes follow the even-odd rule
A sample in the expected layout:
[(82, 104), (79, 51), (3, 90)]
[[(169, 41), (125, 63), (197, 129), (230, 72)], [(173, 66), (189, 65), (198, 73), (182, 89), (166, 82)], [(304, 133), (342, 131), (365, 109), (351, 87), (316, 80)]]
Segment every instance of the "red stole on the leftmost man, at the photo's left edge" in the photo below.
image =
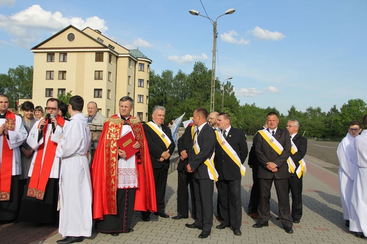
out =
[[(5, 125), (9, 131), (14, 131), (15, 114), (7, 111), (5, 115)], [(9, 148), (6, 135), (2, 133), (2, 155), (0, 171), (0, 201), (10, 200), (10, 184), (13, 170), (13, 150)]]

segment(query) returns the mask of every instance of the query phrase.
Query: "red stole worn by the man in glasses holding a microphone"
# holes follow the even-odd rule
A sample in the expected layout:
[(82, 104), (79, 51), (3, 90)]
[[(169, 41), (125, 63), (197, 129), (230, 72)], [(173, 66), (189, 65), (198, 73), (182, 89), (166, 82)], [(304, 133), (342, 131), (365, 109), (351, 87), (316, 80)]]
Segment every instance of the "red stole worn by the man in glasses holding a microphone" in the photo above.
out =
[[(61, 116), (57, 116), (56, 120), (57, 120), (57, 124), (60, 125), (61, 128), (63, 128), (65, 124), (65, 119), (63, 119)], [(40, 145), (38, 148), (37, 156), (34, 161), (32, 176), (30, 177), (28, 192), (27, 192), (28, 197), (34, 197), (39, 200), (44, 199), (46, 185), (48, 182), (48, 178), (50, 176), (53, 161), (55, 159), (56, 147), (57, 147), (57, 143), (51, 141), (52, 132), (50, 132), (50, 136), (46, 138), (47, 125), (48, 125), (48, 120), (46, 121), (46, 125), (43, 129), (44, 143), (42, 143), (42, 145)], [(38, 124), (38, 126), (40, 125)], [(45, 151), (46, 140), (47, 140), (46, 153), (45, 153), (44, 160), (42, 162), (42, 157)]]

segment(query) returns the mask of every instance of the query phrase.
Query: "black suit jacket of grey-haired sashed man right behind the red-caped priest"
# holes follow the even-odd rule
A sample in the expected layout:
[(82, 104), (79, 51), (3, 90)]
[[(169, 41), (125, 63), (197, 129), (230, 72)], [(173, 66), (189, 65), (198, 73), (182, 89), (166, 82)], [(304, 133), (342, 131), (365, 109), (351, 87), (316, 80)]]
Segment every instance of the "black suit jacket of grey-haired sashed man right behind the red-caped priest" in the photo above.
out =
[(152, 160), (152, 167), (153, 169), (160, 169), (164, 166), (165, 169), (169, 169), (169, 158), (167, 160), (163, 160), (162, 162), (158, 161), (161, 158), (161, 155), (164, 151), (169, 149), (169, 154), (172, 155), (173, 151), (175, 150), (175, 142), (173, 141), (171, 130), (165, 126), (161, 125), (162, 131), (168, 136), (171, 141), (171, 144), (168, 148), (162, 141), (161, 137), (155, 133), (152, 128), (149, 127), (147, 124), (143, 124), (145, 137), (148, 143), (150, 159)]

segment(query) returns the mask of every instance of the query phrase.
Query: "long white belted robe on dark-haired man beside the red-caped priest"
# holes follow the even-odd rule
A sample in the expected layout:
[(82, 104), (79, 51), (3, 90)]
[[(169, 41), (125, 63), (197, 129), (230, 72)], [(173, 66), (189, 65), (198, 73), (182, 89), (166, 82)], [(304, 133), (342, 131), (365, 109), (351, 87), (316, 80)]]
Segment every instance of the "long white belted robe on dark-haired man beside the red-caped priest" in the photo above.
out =
[(77, 113), (64, 127), (56, 149), (61, 159), (59, 233), (66, 236), (92, 235), (92, 183), (87, 152), (91, 132), (87, 118)]

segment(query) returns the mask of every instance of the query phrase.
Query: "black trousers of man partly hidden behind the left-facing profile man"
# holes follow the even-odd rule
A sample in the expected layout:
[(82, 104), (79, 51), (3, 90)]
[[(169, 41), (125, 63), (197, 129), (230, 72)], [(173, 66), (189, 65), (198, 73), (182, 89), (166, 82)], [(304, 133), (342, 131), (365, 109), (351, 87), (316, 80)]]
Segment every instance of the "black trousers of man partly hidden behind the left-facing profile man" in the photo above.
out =
[(191, 196), (191, 206), (192, 212), (191, 217), (196, 219), (196, 206), (195, 206), (195, 194), (194, 185), (192, 182), (192, 173), (187, 173), (185, 169), (182, 171), (177, 171), (177, 212), (188, 218), (188, 188), (190, 186), (190, 196)]

